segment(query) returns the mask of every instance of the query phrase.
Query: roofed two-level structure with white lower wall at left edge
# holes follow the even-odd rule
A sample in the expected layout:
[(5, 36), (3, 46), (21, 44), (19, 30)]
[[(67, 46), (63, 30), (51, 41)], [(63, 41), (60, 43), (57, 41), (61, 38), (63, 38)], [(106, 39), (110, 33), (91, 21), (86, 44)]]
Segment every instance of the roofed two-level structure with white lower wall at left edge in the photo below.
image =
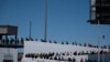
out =
[[(13, 37), (9, 40), (9, 35)], [(0, 25), (0, 62), (18, 62), (18, 27)]]

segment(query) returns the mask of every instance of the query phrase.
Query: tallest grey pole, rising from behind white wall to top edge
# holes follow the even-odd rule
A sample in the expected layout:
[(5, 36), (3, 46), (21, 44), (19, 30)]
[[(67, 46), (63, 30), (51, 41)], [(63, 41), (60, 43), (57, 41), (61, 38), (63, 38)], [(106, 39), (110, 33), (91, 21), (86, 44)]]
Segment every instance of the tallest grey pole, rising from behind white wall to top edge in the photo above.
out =
[(47, 40), (47, 0), (45, 0), (44, 41)]

